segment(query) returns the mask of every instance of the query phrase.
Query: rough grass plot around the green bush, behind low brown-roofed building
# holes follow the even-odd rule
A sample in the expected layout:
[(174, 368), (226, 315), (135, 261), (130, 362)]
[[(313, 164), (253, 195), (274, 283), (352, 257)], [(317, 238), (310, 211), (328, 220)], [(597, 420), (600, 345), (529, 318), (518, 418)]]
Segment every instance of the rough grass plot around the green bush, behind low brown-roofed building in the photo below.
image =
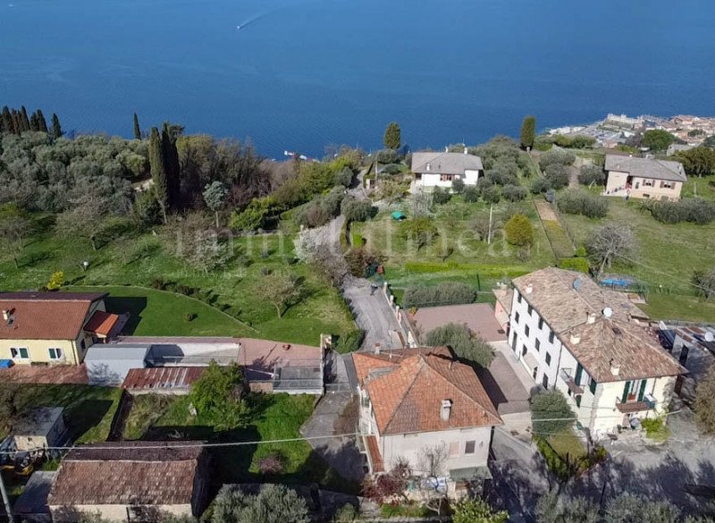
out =
[[(251, 394), (248, 401), (254, 414), (247, 427), (231, 431), (214, 429), (210, 417), (189, 413), (189, 396), (139, 396), (131, 409), (124, 430), (126, 439), (165, 440), (172, 438), (222, 441), (273, 441), (302, 437), (302, 426), (313, 413), (315, 398), (308, 395)], [(260, 460), (269, 454), (282, 456), (282, 474), (272, 477), (284, 483), (318, 483), (344, 492), (357, 492), (352, 485), (337, 476), (312, 450), (306, 441), (286, 443), (251, 443), (227, 447), (216, 453), (215, 472), (223, 483), (262, 481)]]

